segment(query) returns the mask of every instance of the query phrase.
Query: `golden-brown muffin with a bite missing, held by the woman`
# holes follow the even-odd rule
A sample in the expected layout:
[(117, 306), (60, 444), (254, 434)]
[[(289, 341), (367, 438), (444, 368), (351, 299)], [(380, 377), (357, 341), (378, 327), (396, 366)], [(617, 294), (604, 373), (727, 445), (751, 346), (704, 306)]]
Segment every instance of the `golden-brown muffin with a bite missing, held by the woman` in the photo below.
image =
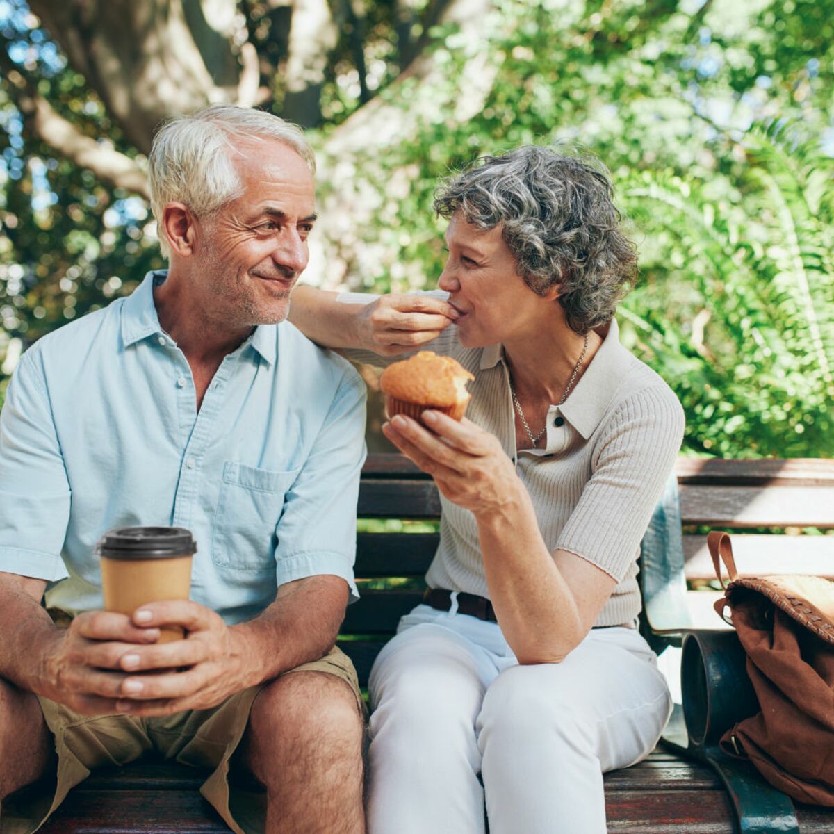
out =
[(475, 377), (455, 359), (421, 350), (409, 359), (389, 365), (379, 378), (379, 387), (385, 394), (389, 420), (395, 414), (420, 420), (425, 409), (460, 420), (470, 401), (466, 390), (469, 379)]

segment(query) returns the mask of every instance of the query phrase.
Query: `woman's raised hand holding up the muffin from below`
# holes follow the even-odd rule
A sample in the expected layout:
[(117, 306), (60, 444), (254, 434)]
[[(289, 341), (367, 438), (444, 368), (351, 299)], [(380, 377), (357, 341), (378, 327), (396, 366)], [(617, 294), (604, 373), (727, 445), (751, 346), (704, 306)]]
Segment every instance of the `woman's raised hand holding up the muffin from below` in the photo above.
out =
[(524, 500), (525, 488), (499, 440), (471, 420), (452, 420), (431, 409), (423, 412), (427, 430), (399, 414), (383, 427), (384, 435), (440, 491), (475, 517), (493, 515)]

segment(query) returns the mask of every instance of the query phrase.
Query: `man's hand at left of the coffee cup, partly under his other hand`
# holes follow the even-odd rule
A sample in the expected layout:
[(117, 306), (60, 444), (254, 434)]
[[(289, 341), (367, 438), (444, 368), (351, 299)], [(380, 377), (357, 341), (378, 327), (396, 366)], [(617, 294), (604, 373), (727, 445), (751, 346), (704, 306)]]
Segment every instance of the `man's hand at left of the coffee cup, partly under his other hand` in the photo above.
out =
[(83, 715), (112, 715), (128, 679), (122, 656), (158, 639), (158, 628), (138, 627), (123, 614), (85, 611), (50, 638), (39, 694)]

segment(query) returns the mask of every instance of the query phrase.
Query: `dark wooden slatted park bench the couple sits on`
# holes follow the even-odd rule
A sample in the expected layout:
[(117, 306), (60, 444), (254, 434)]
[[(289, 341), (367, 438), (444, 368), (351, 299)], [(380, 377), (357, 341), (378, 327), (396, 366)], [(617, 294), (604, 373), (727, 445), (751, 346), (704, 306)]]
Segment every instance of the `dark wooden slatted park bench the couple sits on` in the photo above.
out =
[[(686, 578), (693, 589), (713, 578), (706, 527), (749, 531), (734, 539), (742, 571), (834, 576), (834, 536), (801, 535), (806, 527), (834, 529), (834, 461), (681, 458), (676, 474)], [(339, 637), (363, 686), (399, 616), (420, 601), (439, 512), (434, 483), (409, 461), (399, 455), (369, 457), (359, 496), (356, 575), (362, 600), (349, 607)], [(423, 531), (406, 532), (426, 520), (430, 524)], [(682, 605), (688, 613), (681, 613), (681, 621), (688, 616), (696, 625), (725, 627), (711, 610), (715, 598), (716, 590), (687, 591)], [(202, 778), (154, 761), (98, 771), (71, 792), (43, 834), (228, 831), (198, 795)], [(662, 743), (646, 761), (605, 775), (605, 803), (610, 831), (737, 830), (731, 801), (713, 771)], [(802, 834), (834, 831), (834, 811), (799, 806), (797, 817)]]

